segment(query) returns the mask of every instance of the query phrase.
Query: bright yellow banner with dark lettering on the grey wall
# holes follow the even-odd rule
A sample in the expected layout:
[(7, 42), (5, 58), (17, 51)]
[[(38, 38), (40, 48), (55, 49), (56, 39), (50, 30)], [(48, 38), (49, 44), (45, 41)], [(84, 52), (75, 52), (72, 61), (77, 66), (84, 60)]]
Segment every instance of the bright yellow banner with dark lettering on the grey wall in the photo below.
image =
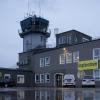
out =
[(86, 60), (78, 62), (78, 70), (98, 69), (98, 60)]

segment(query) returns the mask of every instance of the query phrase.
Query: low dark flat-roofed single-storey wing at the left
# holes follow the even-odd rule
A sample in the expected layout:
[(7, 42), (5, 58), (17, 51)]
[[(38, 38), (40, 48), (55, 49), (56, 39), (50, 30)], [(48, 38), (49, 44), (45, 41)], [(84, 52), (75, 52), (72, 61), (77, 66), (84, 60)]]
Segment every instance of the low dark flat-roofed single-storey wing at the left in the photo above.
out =
[(14, 82), (13, 86), (33, 87), (35, 80), (33, 77), (34, 73), (29, 70), (0, 68), (0, 86), (2, 86), (3, 80), (12, 80)]

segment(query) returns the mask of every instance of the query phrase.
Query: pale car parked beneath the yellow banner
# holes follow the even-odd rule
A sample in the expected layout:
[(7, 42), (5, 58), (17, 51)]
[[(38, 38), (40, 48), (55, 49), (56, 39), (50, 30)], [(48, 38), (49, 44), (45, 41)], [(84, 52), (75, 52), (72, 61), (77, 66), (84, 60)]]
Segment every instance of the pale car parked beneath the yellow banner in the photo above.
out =
[(82, 79), (82, 87), (95, 86), (95, 79), (92, 76), (84, 76)]

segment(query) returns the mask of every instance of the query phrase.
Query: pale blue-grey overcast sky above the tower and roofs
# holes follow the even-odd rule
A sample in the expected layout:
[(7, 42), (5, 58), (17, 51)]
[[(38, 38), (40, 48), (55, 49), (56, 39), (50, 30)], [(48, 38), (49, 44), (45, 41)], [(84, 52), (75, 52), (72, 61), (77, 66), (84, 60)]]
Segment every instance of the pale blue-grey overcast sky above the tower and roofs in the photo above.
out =
[(19, 22), (27, 12), (50, 21), (50, 44), (54, 43), (54, 28), (100, 37), (100, 0), (29, 0), (29, 7), (28, 0), (0, 0), (0, 67), (16, 66), (18, 53), (23, 50)]

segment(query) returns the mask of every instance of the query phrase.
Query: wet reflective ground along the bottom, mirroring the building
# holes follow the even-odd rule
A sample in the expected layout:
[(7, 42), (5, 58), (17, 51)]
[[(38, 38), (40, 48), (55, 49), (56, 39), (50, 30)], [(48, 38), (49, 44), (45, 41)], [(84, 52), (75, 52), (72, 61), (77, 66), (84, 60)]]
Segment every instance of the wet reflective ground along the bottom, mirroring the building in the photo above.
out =
[(0, 100), (100, 100), (100, 89), (9, 89), (0, 91)]

